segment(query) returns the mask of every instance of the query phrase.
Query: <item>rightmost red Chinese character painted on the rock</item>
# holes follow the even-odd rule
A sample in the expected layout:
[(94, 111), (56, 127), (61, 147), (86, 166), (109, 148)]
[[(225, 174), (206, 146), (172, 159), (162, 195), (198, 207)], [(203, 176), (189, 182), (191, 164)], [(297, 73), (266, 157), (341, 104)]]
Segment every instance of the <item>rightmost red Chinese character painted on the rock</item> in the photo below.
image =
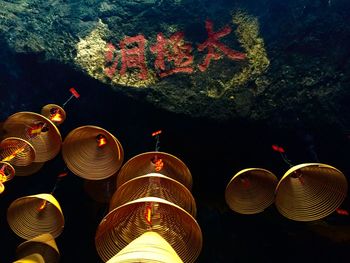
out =
[(208, 49), (208, 54), (205, 56), (204, 62), (198, 65), (200, 71), (205, 71), (210, 64), (210, 61), (218, 60), (222, 57), (217, 50), (220, 50), (224, 53), (228, 58), (232, 60), (242, 60), (246, 58), (244, 53), (235, 51), (227, 47), (226, 45), (219, 42), (219, 38), (222, 38), (231, 33), (231, 28), (229, 26), (225, 26), (218, 32), (213, 32), (213, 22), (205, 21), (205, 29), (208, 32), (208, 39), (204, 41), (204, 43), (198, 45), (198, 50), (203, 51), (204, 49)]

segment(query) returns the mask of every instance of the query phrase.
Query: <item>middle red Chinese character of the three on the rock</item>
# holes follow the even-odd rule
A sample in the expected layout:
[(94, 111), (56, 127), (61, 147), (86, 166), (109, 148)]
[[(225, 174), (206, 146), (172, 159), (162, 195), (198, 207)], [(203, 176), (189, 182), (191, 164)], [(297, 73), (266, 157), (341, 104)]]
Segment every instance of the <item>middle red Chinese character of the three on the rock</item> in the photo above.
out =
[[(166, 77), (178, 72), (193, 72), (191, 66), (193, 56), (190, 54), (192, 47), (190, 44), (186, 44), (183, 38), (183, 32), (177, 32), (169, 39), (166, 39), (162, 33), (157, 35), (157, 43), (150, 50), (157, 54), (154, 66), (156, 69), (163, 71), (159, 74), (160, 77)], [(168, 67), (165, 65), (165, 59), (170, 62)], [(169, 67), (173, 68), (166, 70)]]

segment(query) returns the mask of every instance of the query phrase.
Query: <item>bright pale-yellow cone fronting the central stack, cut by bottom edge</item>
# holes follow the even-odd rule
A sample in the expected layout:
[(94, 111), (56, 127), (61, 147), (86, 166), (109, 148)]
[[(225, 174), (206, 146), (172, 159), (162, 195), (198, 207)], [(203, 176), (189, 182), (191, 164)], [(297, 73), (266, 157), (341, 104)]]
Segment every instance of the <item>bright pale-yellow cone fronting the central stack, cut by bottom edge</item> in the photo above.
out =
[(182, 263), (169, 243), (156, 232), (146, 232), (133, 240), (107, 263)]

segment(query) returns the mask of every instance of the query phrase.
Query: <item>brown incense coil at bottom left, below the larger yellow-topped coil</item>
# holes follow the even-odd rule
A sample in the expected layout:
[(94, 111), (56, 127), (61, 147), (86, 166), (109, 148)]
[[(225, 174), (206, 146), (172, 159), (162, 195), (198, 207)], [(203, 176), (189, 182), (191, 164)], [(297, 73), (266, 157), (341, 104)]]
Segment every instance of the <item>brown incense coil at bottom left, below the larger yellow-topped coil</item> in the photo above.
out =
[(16, 257), (24, 258), (34, 253), (40, 254), (44, 262), (58, 263), (60, 260), (60, 252), (50, 234), (42, 234), (20, 244), (16, 250)]

